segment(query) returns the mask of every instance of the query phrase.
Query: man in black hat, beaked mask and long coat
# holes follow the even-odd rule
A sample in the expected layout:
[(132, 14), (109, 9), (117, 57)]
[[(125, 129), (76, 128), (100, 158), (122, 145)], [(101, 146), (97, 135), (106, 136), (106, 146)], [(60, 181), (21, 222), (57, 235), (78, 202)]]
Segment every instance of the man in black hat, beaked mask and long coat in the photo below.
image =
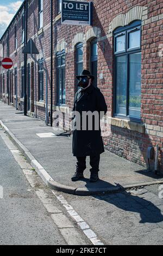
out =
[(72, 181), (84, 178), (86, 156), (90, 156), (90, 182), (98, 181), (100, 155), (104, 152), (100, 120), (107, 112), (101, 91), (92, 85), (95, 77), (88, 70), (80, 76), (73, 108), (73, 155), (77, 157), (77, 170)]

